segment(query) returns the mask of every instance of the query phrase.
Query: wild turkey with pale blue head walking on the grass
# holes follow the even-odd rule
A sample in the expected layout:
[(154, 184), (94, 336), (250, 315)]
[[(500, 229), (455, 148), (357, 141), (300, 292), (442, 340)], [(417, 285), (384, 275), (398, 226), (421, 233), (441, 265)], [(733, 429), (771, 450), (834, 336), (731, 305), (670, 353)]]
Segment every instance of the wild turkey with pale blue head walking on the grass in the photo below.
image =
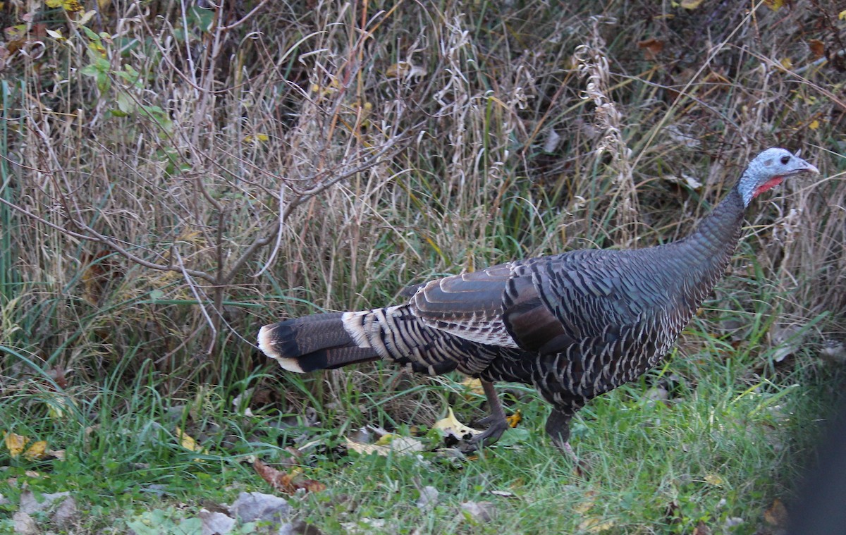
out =
[(784, 149), (767, 149), (683, 240), (569, 251), (432, 280), (401, 305), (266, 325), (258, 345), (290, 372), (386, 359), (415, 372), (480, 378), (491, 416), (471, 448), (496, 442), (508, 427), (493, 383), (533, 385), (552, 404), (552, 442), (572, 453), (574, 413), (667, 354), (722, 277), (744, 208), (803, 171), (819, 173)]

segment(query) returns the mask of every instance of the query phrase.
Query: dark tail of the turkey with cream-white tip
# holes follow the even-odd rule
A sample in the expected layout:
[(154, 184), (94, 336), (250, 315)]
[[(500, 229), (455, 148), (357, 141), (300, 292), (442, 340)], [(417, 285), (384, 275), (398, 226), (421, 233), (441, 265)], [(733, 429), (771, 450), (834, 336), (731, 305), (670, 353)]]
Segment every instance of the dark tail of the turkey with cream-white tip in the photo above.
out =
[(289, 372), (305, 373), (379, 358), (359, 347), (343, 327), (342, 313), (316, 314), (265, 325), (259, 348)]

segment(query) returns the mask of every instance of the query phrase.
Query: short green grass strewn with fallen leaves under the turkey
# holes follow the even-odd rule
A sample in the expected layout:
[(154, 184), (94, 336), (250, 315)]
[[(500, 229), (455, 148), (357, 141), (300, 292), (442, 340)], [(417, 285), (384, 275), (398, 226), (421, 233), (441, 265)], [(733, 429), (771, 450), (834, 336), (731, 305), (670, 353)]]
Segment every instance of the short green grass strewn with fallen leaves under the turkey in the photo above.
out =
[[(11, 503), (0, 510), (14, 512), (27, 488), (70, 491), (85, 512), (77, 532), (122, 532), (124, 522), (174, 505), (169, 514), (188, 519), (203, 504), (231, 503), (242, 490), (272, 492), (248, 455), (273, 465), (288, 457), (286, 445), (316, 441), (303, 448), (299, 464), (304, 477), (327, 489), (290, 501), (299, 518), (322, 532), (343, 532), (352, 523), (385, 533), (578, 533), (598, 526), (608, 532), (685, 533), (700, 521), (720, 530), (734, 519), (737, 525), (728, 532), (753, 533), (766, 527), (763, 512), (774, 499), (791, 498), (803, 464), (797, 459), (807, 455), (815, 420), (832, 403), (831, 372), (817, 371), (805, 351), (779, 367), (773, 380), (750, 375), (764, 354), (760, 347), (727, 349), (695, 330), (700, 327), (684, 340), (685, 347), (698, 348), (695, 353), (674, 353), (663, 367), (580, 411), (571, 441), (590, 466), (586, 473), (574, 470), (549, 443), (542, 430), (547, 405), (525, 389), (516, 391), (520, 400), (509, 407), (524, 416), (518, 429), (477, 458), (458, 461), (438, 451), (439, 439), (431, 434), (421, 438), (427, 450), (419, 455), (359, 455), (341, 447), (343, 435), (357, 427), (396, 426), (392, 405), (426, 400), (438, 406), (440, 400), (440, 410), (451, 404), (459, 419), (481, 416), (481, 398), (468, 400), (454, 383), (418, 384), (398, 393), (346, 389), (331, 407), (312, 398), (309, 405), (321, 422), (304, 427), (275, 409), (256, 408), (251, 417), (233, 411), (234, 396), (260, 377), (230, 389), (193, 389), (191, 398), (179, 399), (162, 395), (166, 378), (149, 367), (133, 378), (114, 372), (104, 383), (63, 394), (33, 376), (7, 387), (12, 394), (0, 401), (4, 429), (47, 440), (65, 458), (11, 459), (4, 449), (0, 494)], [(668, 399), (652, 400), (653, 385), (666, 378), (672, 378)], [(276, 388), (276, 380), (264, 379)], [(320, 383), (300, 380), (300, 395)], [(425, 431), (427, 416), (424, 410), (409, 417), (397, 432), (410, 433), (411, 425)], [(338, 425), (338, 419), (346, 422)], [(177, 427), (198, 438), (206, 452), (184, 449)], [(439, 491), (431, 510), (415, 505), (426, 486)], [(496, 506), (491, 521), (460, 512), (465, 502), (482, 501)], [(365, 519), (384, 523), (367, 528)], [(9, 522), (0, 521), (0, 527)]]

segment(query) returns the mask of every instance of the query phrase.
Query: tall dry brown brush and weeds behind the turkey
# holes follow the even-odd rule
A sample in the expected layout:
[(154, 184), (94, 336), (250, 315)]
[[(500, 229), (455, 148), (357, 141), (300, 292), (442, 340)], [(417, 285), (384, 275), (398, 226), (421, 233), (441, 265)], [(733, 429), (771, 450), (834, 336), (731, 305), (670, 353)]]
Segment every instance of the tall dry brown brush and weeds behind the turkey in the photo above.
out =
[(6, 3), (0, 344), (244, 375), (266, 320), (677, 238), (766, 146), (821, 178), (756, 203), (733, 273), (836, 328), (835, 4)]

